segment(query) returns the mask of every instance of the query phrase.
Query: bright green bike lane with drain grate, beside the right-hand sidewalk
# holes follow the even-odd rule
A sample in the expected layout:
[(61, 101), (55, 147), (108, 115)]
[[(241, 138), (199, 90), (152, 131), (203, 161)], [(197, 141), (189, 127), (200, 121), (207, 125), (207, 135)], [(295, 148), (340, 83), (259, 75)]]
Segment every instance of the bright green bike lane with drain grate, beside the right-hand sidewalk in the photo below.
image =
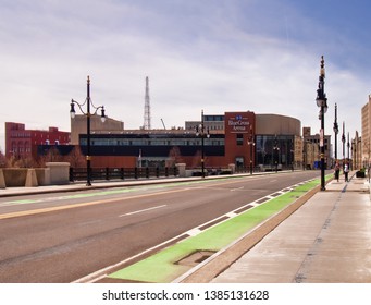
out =
[(265, 196), (255, 203), (247, 204), (245, 211), (237, 211), (242, 208), (232, 211), (227, 220), (205, 230), (197, 229), (195, 230), (196, 233), (191, 236), (108, 274), (103, 281), (172, 282), (194, 268), (193, 264), (183, 264), (183, 259), (193, 254), (208, 253), (211, 255), (220, 252), (319, 184), (319, 179), (310, 180), (306, 183), (287, 187), (285, 192), (275, 192), (272, 196)]

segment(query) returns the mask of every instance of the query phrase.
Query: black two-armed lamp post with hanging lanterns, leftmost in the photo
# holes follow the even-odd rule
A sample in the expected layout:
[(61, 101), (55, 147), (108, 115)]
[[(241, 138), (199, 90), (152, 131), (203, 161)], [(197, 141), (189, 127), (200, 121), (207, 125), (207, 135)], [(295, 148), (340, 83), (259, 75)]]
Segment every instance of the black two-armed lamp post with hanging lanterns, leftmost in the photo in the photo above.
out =
[[(90, 113), (90, 103), (94, 108), (94, 113)], [(86, 115), (86, 130), (87, 130), (87, 154), (86, 154), (86, 186), (91, 186), (91, 156), (90, 156), (90, 117), (91, 114), (97, 114), (98, 110), (101, 110), (100, 119), (102, 123), (106, 121), (106, 113), (104, 113), (104, 106), (95, 107), (90, 99), (90, 78), (88, 76), (87, 78), (87, 97), (86, 100), (83, 103), (79, 103), (75, 101), (74, 99), (71, 100), (71, 110), (70, 115), (71, 119), (75, 118), (76, 111), (75, 111), (75, 105), (79, 108), (81, 112)], [(86, 105), (86, 112), (84, 112), (83, 107)]]

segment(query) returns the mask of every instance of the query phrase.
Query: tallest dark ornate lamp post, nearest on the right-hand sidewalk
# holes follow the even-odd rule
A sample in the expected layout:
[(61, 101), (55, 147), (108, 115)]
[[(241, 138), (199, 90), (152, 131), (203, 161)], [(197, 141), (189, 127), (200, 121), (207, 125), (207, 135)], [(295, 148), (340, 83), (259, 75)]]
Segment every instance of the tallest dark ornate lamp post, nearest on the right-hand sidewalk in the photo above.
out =
[(317, 89), (317, 106), (320, 108), (319, 119), (321, 120), (320, 147), (321, 147), (321, 191), (325, 191), (324, 181), (324, 113), (327, 111), (327, 98), (324, 93), (324, 59), (321, 58), (321, 70)]

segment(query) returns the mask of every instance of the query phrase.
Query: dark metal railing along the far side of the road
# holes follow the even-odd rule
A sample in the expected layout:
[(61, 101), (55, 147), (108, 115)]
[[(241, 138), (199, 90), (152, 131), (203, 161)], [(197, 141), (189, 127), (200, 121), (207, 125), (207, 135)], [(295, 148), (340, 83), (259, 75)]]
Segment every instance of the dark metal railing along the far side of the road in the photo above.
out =
[[(150, 179), (160, 176), (177, 176), (178, 170), (173, 168), (91, 168), (91, 180), (126, 180)], [(70, 168), (70, 181), (87, 180), (86, 168)]]

